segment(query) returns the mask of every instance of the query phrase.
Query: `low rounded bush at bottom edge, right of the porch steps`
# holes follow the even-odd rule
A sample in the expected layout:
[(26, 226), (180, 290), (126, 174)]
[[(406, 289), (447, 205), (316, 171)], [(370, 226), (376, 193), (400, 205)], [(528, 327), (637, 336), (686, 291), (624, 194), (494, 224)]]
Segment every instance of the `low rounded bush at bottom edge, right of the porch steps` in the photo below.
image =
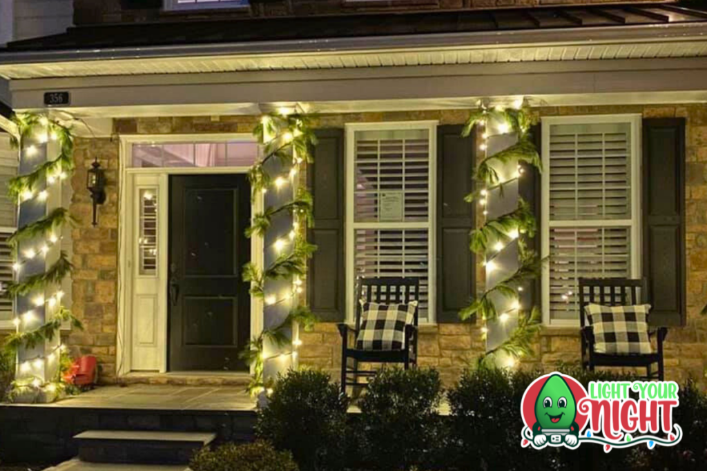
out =
[(228, 443), (211, 451), (203, 448), (189, 463), (192, 471), (298, 471), (289, 451), (276, 451), (267, 441)]

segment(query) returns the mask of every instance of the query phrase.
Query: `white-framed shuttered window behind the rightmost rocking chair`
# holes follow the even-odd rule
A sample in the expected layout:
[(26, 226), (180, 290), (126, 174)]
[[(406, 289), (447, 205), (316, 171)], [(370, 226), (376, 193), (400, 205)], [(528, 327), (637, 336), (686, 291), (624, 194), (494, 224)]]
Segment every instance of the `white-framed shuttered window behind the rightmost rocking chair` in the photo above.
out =
[(641, 273), (640, 119), (544, 118), (543, 312), (578, 323), (579, 278)]

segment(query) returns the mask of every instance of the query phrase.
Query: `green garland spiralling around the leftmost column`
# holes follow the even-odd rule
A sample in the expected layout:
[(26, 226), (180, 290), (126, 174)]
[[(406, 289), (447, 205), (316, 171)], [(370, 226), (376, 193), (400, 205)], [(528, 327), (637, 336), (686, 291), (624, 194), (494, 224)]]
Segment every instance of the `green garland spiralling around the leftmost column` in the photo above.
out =
[[(17, 135), (11, 137), (11, 144), (13, 148), (24, 153), (25, 157), (30, 162), (33, 155), (37, 153), (37, 145), (34, 143), (28, 144), (30, 140), (40, 143), (40, 145), (49, 143), (49, 141), (58, 143), (59, 155), (56, 158), (53, 160), (47, 159), (45, 162), (37, 165), (31, 172), (11, 179), (8, 184), (9, 195), (12, 198), (16, 198), (17, 201), (27, 201), (31, 198), (40, 198), (40, 201), (42, 201), (48, 196), (48, 192), (42, 190), (37, 193), (37, 189), (39, 189), (38, 187), (40, 185), (46, 183), (46, 185), (49, 186), (57, 181), (68, 179), (71, 172), (74, 170), (74, 136), (69, 126), (57, 120), (50, 119), (44, 114), (15, 114), (13, 116), (13, 122), (17, 126)], [(9, 237), (8, 244), (13, 248), (14, 256), (18, 258), (18, 249), (21, 243), (28, 243), (34, 239), (49, 237), (49, 243), (42, 247), (42, 253), (46, 254), (49, 250), (49, 244), (54, 245), (59, 241), (62, 227), (67, 223), (73, 222), (74, 218), (71, 217), (69, 210), (66, 208), (55, 208), (45, 217), (20, 227)], [(33, 258), (36, 253), (35, 250), (32, 250), (32, 255), (27, 256), (27, 258)], [(16, 260), (14, 266), (16, 270), (19, 270), (22, 266), (21, 261)], [(69, 256), (66, 252), (60, 251), (57, 261), (52, 263), (52, 266), (47, 268), (44, 273), (29, 275), (21, 280), (9, 283), (6, 286), (4, 295), (12, 299), (13, 297), (25, 296), (30, 294), (30, 292), (36, 291), (42, 293), (42, 304), (45, 304), (43, 301), (43, 293), (45, 290), (49, 287), (58, 287), (61, 285), (62, 280), (70, 275), (72, 270), (73, 266), (71, 265), (71, 261), (69, 261)], [(26, 330), (24, 332), (18, 331), (9, 335), (4, 340), (4, 350), (16, 355), (21, 348), (32, 349), (42, 342), (54, 340), (64, 323), (69, 323), (72, 328), (83, 329), (81, 321), (71, 314), (71, 311), (62, 306), (61, 300), (62, 292), (57, 291), (49, 299), (48, 304), (48, 306), (55, 309), (52, 317), (33, 330)], [(25, 313), (23, 315), (29, 314), (30, 313)], [(20, 318), (16, 317), (15, 321), (16, 325), (19, 326), (21, 322)], [(58, 394), (70, 388), (69, 385), (64, 384), (62, 380), (62, 371), (64, 371), (66, 364), (70, 363), (70, 359), (61, 346), (57, 347), (57, 350), (59, 350), (60, 364), (62, 365), (57, 371), (57, 377), (52, 381), (44, 381), (37, 376), (18, 378), (13, 381), (11, 398), (16, 398), (18, 395), (28, 391), (35, 393), (35, 395), (39, 393), (40, 390), (45, 390), (46, 393)], [(55, 353), (56, 351), (52, 352), (50, 355), (54, 355)], [(40, 355), (35, 359), (25, 359), (23, 364), (43, 358), (44, 357)]]

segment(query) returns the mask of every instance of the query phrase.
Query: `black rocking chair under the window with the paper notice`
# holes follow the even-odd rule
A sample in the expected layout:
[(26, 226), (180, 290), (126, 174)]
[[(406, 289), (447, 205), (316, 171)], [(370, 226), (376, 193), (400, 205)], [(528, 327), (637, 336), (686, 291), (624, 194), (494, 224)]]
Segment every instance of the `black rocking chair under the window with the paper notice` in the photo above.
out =
[[(356, 287), (356, 327), (351, 328), (346, 323), (339, 324), (341, 333), (341, 392), (346, 394), (346, 386), (354, 388), (365, 387), (359, 383), (362, 376), (369, 378), (376, 371), (358, 369), (359, 362), (367, 363), (402, 363), (405, 369), (417, 365), (417, 322), (419, 306), (415, 309), (413, 325), (405, 326), (405, 340), (402, 350), (358, 350), (349, 347), (349, 332), (354, 333), (354, 346), (358, 330), (361, 328), (363, 309), (360, 300), (380, 304), (408, 304), (420, 302), (420, 284), (418, 278), (360, 278)], [(349, 359), (352, 365), (349, 367)], [(350, 376), (353, 376), (351, 378)]]

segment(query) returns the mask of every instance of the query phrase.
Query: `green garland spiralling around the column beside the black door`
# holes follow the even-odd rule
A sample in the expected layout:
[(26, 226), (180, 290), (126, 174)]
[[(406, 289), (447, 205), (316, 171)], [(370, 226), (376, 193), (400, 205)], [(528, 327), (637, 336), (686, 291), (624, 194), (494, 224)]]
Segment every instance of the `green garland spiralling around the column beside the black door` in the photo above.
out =
[[(267, 192), (271, 186), (279, 187), (284, 183), (284, 177), (274, 178), (266, 169), (269, 160), (278, 160), (283, 167), (291, 167), (288, 178), (293, 179), (298, 173), (298, 167), (303, 163), (312, 162), (310, 149), (317, 144), (312, 128), (312, 117), (306, 114), (269, 114), (255, 127), (253, 134), (258, 139), (263, 149), (261, 160), (256, 162), (248, 172), (252, 189), (252, 197), (259, 192)], [(253, 297), (264, 299), (266, 304), (296, 299), (293, 295), (287, 299), (277, 300), (273, 296), (267, 297), (265, 283), (268, 280), (291, 280), (293, 283), (301, 282), (308, 268), (308, 261), (317, 250), (315, 245), (309, 244), (304, 236), (304, 229), (313, 224), (313, 200), (311, 193), (303, 186), (298, 187), (293, 199), (277, 208), (269, 207), (262, 213), (252, 217), (252, 225), (246, 229), (247, 237), (264, 237), (271, 228), (272, 220), (281, 214), (290, 214), (296, 221), (290, 234), (292, 249), (280, 254), (269, 266), (260, 270), (254, 263), (247, 263), (243, 267), (243, 279), (250, 282), (250, 294)], [(273, 298), (273, 299), (271, 299)], [(266, 342), (277, 348), (284, 347), (289, 341), (287, 331), (295, 324), (311, 330), (317, 318), (306, 306), (295, 304), (285, 320), (277, 326), (262, 330), (259, 335), (248, 342), (245, 350), (240, 353), (240, 358), (253, 366), (253, 374), (247, 390), (257, 394), (264, 390), (264, 365), (263, 357)]]

